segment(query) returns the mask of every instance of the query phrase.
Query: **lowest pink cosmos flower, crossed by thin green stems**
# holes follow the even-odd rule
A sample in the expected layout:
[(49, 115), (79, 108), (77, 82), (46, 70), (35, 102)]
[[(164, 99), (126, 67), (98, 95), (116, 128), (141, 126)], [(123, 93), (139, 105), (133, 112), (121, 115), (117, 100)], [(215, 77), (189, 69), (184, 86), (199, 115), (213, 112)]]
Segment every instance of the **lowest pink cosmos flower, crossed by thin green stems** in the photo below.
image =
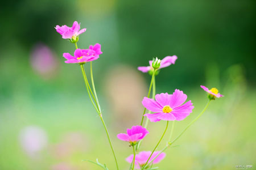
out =
[[(160, 153), (160, 151), (155, 151), (150, 160), (148, 162), (151, 162), (152, 159), (154, 159), (158, 154)], [(143, 166), (146, 162), (147, 159), (150, 157), (151, 155), (151, 151), (142, 151), (139, 152), (139, 154), (137, 154), (135, 156), (135, 168), (137, 169), (141, 169), (140, 165)], [(159, 163), (162, 159), (164, 159), (164, 157), (166, 157), (166, 154), (164, 152), (162, 152), (155, 160), (153, 160), (153, 164), (157, 164)], [(126, 158), (126, 161), (129, 163), (133, 162), (133, 155), (130, 155), (128, 158)]]

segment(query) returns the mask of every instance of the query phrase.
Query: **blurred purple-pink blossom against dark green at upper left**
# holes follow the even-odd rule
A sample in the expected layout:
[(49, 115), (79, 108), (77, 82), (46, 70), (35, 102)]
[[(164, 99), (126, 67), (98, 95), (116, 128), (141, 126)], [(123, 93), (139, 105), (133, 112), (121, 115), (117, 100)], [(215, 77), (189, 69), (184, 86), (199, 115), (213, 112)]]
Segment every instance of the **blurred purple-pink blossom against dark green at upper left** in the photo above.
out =
[(38, 43), (33, 47), (30, 63), (36, 73), (44, 78), (51, 78), (53, 75), (56, 75), (55, 73), (59, 66), (55, 53), (42, 43)]

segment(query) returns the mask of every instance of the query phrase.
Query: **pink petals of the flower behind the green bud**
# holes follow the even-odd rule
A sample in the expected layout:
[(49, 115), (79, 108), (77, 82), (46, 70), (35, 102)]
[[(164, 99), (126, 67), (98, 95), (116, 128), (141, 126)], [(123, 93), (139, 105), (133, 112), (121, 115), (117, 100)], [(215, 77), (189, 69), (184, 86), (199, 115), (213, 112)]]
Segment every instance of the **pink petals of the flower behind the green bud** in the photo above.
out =
[[(167, 56), (164, 57), (160, 63), (160, 67), (159, 69), (162, 69), (164, 67), (168, 67), (171, 64), (175, 64), (175, 61), (177, 59), (177, 56)], [(138, 67), (139, 71), (142, 71), (143, 73), (147, 73), (148, 71), (152, 70), (152, 60), (149, 61), (150, 66), (146, 66), (146, 67)]]

